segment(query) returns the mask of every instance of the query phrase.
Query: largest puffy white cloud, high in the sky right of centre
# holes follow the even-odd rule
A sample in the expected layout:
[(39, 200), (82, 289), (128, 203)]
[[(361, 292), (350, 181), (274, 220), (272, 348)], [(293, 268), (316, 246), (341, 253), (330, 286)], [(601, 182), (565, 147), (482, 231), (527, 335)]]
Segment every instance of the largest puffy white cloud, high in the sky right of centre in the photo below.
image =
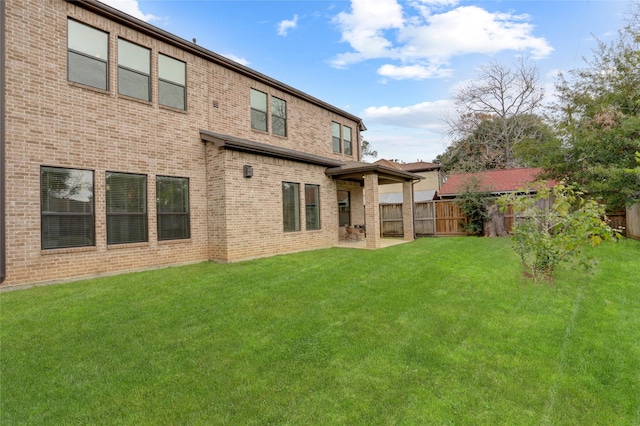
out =
[(548, 56), (553, 48), (535, 37), (530, 16), (492, 13), (478, 6), (457, 6), (456, 0), (352, 0), (350, 13), (334, 22), (351, 51), (332, 60), (337, 68), (370, 59), (397, 60), (378, 72), (394, 79), (445, 77), (453, 57), (526, 53), (533, 59)]

